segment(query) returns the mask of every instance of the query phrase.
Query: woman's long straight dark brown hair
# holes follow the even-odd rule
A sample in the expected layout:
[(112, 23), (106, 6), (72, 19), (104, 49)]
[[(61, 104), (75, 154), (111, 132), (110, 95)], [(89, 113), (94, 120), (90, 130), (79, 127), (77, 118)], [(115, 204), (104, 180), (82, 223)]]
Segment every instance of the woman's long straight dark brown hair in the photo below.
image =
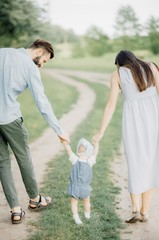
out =
[(150, 65), (138, 59), (132, 52), (127, 50), (120, 51), (115, 58), (115, 64), (118, 65), (118, 67), (123, 66), (131, 70), (140, 92), (155, 85), (155, 79)]

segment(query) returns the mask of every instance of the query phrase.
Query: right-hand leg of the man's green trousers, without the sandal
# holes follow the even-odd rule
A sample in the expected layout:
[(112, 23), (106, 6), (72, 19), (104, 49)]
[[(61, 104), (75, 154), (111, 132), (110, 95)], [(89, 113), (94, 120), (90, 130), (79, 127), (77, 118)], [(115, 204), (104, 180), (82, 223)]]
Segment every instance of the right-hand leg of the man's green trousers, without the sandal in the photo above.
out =
[(36, 198), (38, 196), (37, 182), (28, 146), (28, 133), (23, 126), (22, 119), (18, 118), (10, 124), (1, 126), (1, 131), (16, 157), (29, 197)]

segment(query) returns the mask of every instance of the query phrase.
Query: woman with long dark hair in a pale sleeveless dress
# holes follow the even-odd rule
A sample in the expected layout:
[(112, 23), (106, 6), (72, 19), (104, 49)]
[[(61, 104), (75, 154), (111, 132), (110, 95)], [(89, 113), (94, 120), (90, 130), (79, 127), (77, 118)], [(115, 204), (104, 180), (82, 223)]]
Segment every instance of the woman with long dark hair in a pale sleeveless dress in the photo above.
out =
[(102, 139), (121, 89), (122, 136), (133, 215), (126, 222), (145, 222), (154, 190), (159, 187), (159, 71), (154, 63), (142, 61), (125, 50), (117, 54), (115, 64), (117, 70), (112, 74), (110, 97), (93, 142)]

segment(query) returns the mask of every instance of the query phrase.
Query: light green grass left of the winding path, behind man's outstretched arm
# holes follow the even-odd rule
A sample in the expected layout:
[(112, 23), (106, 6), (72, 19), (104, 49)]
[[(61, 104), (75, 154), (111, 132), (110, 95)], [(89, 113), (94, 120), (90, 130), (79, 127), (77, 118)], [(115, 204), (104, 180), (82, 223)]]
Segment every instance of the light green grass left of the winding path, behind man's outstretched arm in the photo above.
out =
[[(67, 86), (47, 74), (42, 73), (42, 79), (45, 93), (53, 107), (56, 117), (59, 119), (64, 113), (67, 113), (71, 109), (79, 93), (74, 87)], [(21, 103), (24, 123), (29, 131), (30, 142), (32, 142), (43, 133), (44, 129), (48, 127), (48, 124), (39, 112), (29, 90), (23, 92), (19, 96), (18, 101)]]

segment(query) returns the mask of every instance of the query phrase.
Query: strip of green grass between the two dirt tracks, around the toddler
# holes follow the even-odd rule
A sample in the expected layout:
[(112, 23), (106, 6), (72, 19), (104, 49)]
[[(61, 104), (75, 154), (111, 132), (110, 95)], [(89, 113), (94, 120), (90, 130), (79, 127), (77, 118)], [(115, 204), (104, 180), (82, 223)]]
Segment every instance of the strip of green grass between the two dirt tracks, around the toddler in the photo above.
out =
[[(71, 146), (74, 152), (81, 137), (91, 140), (96, 133), (108, 98), (109, 90), (100, 84), (88, 83), (96, 92), (97, 98), (94, 109), (87, 119), (71, 136)], [(93, 167), (93, 182), (91, 195), (91, 219), (83, 217), (83, 204), (79, 201), (79, 215), (84, 224), (77, 226), (71, 214), (67, 186), (71, 164), (65, 152), (60, 153), (48, 164), (44, 187), (41, 189), (46, 195), (53, 196), (54, 204), (50, 209), (41, 213), (34, 226), (29, 240), (119, 240), (119, 231), (123, 227), (121, 220), (115, 213), (116, 194), (120, 189), (110, 181), (109, 166), (113, 156), (119, 150), (121, 142), (121, 100), (117, 110), (100, 144), (97, 163)]]

